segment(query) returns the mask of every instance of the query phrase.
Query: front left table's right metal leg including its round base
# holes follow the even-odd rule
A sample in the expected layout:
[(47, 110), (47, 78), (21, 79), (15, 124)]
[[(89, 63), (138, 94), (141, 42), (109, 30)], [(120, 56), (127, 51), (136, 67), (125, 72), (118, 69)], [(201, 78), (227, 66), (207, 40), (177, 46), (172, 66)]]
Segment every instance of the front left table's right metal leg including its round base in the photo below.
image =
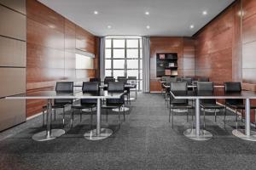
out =
[(101, 99), (97, 99), (97, 111), (96, 111), (96, 129), (90, 130), (89, 132), (84, 133), (84, 138), (89, 140), (101, 140), (108, 138), (113, 131), (109, 128), (101, 127), (101, 108), (102, 101)]

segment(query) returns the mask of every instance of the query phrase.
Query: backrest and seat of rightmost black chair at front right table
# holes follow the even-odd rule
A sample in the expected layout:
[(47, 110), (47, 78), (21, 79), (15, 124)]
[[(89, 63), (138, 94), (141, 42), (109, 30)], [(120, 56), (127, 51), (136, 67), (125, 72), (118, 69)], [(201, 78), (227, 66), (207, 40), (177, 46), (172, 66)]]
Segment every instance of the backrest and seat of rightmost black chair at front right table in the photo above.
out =
[[(241, 93), (241, 82), (224, 82), (225, 93)], [(225, 99), (226, 104), (241, 105), (243, 99)]]

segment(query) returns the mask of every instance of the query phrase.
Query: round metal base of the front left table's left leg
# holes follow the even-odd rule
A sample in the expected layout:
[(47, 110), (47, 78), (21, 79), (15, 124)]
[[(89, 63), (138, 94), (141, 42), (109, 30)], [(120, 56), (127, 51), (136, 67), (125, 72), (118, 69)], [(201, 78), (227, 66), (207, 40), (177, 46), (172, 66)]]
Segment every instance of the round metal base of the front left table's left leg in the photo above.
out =
[(35, 133), (32, 136), (32, 139), (38, 142), (42, 142), (42, 141), (58, 138), (63, 134), (65, 134), (65, 130), (63, 129), (51, 129), (51, 135), (47, 135), (46, 130), (44, 130), (40, 133)]

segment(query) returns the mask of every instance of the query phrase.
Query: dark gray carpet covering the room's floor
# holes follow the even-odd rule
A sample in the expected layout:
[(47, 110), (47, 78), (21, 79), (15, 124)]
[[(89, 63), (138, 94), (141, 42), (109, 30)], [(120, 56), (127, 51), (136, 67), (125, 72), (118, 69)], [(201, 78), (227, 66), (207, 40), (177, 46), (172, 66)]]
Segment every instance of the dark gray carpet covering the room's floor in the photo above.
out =
[[(208, 141), (195, 141), (183, 136), (191, 127), (191, 116), (186, 122), (183, 113), (174, 116), (174, 128), (168, 122), (169, 110), (161, 94), (139, 94), (131, 102), (125, 122), (118, 128), (118, 116), (111, 112), (102, 115), (102, 126), (113, 129), (108, 139), (90, 141), (83, 134), (90, 130), (90, 116), (84, 114), (82, 122), (75, 116), (69, 127), (70, 112), (66, 115), (65, 130), (61, 138), (36, 142), (32, 134), (40, 132), (40, 116), (0, 133), (1, 170), (40, 169), (255, 169), (256, 143), (238, 139), (231, 131), (235, 116), (228, 117), (224, 129), (222, 113), (218, 121), (207, 114), (207, 130), (214, 136)], [(192, 113), (190, 113), (192, 114)], [(96, 116), (93, 119), (93, 127)], [(240, 123), (243, 127), (243, 123)], [(61, 114), (53, 122), (61, 128)]]

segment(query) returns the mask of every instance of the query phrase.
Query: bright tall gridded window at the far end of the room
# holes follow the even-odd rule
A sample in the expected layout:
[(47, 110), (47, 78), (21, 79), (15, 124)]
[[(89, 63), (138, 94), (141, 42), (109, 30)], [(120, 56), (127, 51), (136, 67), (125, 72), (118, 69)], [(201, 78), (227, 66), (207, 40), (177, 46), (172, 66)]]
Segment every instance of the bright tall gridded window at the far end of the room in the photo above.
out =
[(105, 76), (137, 77), (137, 89), (143, 89), (141, 37), (106, 37)]

